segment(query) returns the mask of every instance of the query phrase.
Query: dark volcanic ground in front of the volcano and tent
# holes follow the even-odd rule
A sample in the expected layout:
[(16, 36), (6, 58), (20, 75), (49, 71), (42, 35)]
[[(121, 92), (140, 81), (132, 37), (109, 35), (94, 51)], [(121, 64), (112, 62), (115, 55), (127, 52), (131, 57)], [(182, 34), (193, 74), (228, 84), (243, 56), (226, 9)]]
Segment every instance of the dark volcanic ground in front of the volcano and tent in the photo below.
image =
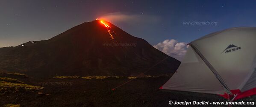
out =
[[(19, 80), (18, 82), (24, 82), (22, 84), (44, 87), (25, 90), (15, 86), (5, 93), (3, 88), (8, 87), (0, 87), (0, 107), (6, 104), (20, 104), (21, 107), (170, 107), (172, 106), (168, 104), (170, 100), (227, 101), (212, 94), (159, 90), (158, 88), (170, 78), (168, 76), (135, 78), (116, 90), (112, 89), (131, 79), (77, 77), (36, 79), (6, 73), (1, 73), (0, 77), (2, 82), (17, 83)], [(17, 80), (3, 80), (3, 77)], [(254, 99), (255, 97), (251, 97), (239, 101), (255, 101)]]

